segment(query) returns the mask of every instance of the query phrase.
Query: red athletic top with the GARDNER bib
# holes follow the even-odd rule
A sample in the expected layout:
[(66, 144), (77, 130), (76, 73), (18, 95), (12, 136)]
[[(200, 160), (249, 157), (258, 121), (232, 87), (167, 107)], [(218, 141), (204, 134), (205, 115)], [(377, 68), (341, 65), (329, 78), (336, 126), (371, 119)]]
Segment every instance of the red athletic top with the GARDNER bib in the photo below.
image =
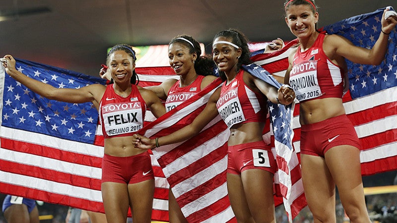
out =
[(227, 127), (237, 123), (264, 122), (266, 118), (266, 97), (251, 90), (243, 80), (244, 70), (226, 85), (223, 83), (216, 103), (219, 114)]

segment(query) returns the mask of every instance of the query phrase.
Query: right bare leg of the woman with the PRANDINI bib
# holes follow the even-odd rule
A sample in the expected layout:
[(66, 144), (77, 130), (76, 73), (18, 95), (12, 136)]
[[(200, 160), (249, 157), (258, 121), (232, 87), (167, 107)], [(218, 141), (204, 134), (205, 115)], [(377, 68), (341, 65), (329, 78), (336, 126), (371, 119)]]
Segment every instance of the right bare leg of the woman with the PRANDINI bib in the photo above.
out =
[(370, 223), (365, 206), (360, 151), (353, 146), (336, 146), (327, 151), (325, 158), (350, 222)]

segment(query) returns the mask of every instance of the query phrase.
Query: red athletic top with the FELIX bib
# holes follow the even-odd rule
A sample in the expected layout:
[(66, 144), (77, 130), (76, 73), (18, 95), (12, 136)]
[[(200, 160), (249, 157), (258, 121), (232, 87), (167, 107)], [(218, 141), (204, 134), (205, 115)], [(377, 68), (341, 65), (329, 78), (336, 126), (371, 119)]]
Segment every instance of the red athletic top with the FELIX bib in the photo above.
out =
[(123, 98), (115, 93), (113, 84), (106, 86), (99, 106), (105, 138), (132, 136), (143, 127), (146, 103), (135, 85), (131, 85), (131, 89), (131, 94)]

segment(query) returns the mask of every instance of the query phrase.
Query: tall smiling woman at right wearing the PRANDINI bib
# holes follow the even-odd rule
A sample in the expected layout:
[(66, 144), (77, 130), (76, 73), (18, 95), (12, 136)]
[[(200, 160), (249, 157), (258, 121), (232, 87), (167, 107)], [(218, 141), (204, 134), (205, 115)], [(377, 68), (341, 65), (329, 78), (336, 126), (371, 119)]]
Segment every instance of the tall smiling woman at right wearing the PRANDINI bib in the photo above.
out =
[[(285, 22), (298, 41), (291, 52), (284, 83), (299, 100), (302, 180), (314, 222), (335, 222), (335, 185), (351, 222), (370, 222), (361, 178), (356, 131), (342, 104), (349, 84), (345, 59), (380, 64), (397, 16), (381, 18), (381, 33), (372, 49), (354, 46), (338, 35), (317, 31), (319, 12), (314, 0), (287, 0)], [(316, 139), (316, 140), (315, 140)], [(349, 179), (349, 180), (346, 180)]]

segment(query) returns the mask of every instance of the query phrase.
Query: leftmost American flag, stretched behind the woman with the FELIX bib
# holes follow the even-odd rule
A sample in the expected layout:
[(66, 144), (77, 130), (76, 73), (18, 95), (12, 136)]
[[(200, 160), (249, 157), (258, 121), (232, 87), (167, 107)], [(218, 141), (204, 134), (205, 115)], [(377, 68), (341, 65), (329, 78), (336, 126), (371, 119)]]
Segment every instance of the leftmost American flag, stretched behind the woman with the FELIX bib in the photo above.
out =
[[(105, 80), (17, 59), (25, 75), (56, 88), (80, 88)], [(101, 195), (103, 136), (92, 103), (48, 100), (0, 69), (0, 193), (94, 212)], [(168, 183), (156, 160), (152, 219), (168, 220)]]

